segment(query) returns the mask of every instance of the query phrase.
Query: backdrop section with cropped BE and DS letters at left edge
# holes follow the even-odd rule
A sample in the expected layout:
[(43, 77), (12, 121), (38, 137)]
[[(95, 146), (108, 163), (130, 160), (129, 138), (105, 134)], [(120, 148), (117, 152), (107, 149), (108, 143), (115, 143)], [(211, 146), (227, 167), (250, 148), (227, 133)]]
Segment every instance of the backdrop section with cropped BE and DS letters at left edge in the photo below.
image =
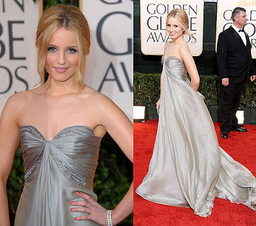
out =
[(39, 3), (0, 0), (0, 114), (9, 96), (39, 82), (35, 33)]

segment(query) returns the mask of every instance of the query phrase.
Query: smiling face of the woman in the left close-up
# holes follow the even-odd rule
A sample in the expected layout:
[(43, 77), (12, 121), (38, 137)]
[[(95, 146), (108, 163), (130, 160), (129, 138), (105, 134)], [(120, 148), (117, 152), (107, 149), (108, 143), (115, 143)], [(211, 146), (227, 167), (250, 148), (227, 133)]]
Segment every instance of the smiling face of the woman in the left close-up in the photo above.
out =
[(52, 79), (65, 82), (73, 77), (79, 60), (76, 35), (61, 27), (52, 34), (49, 41), (45, 70)]

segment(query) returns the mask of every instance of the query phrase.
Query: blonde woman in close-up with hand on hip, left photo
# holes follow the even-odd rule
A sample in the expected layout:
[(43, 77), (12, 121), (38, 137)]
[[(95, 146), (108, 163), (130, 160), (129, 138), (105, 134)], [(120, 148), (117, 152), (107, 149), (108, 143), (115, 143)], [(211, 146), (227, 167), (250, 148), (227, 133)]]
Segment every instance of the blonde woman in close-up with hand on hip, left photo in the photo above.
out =
[(6, 180), (19, 142), (25, 185), (15, 225), (115, 225), (132, 212), (132, 187), (111, 212), (97, 203), (92, 183), (106, 132), (132, 161), (132, 123), (84, 85), (90, 30), (83, 13), (60, 4), (45, 10), (36, 47), (41, 86), (11, 96), (1, 116), (0, 225), (10, 225)]

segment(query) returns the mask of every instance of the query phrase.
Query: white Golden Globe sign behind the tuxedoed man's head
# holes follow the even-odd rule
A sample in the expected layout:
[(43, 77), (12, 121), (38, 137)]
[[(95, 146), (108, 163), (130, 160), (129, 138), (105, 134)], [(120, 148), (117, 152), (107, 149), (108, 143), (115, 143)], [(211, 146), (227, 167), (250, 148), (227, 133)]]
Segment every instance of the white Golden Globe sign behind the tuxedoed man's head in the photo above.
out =
[(256, 0), (218, 0), (217, 25), (216, 25), (216, 48), (218, 36), (233, 23), (232, 11), (237, 6), (246, 10), (247, 24), (244, 31), (248, 34), (252, 44), (252, 57), (256, 58)]

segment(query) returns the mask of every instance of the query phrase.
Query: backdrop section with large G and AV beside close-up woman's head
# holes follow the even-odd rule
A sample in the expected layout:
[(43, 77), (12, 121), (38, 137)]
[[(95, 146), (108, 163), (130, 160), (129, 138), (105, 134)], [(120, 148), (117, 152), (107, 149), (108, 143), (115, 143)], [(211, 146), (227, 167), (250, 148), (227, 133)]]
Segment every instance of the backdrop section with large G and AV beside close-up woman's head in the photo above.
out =
[(132, 0), (83, 0), (80, 8), (92, 38), (85, 83), (132, 120)]

